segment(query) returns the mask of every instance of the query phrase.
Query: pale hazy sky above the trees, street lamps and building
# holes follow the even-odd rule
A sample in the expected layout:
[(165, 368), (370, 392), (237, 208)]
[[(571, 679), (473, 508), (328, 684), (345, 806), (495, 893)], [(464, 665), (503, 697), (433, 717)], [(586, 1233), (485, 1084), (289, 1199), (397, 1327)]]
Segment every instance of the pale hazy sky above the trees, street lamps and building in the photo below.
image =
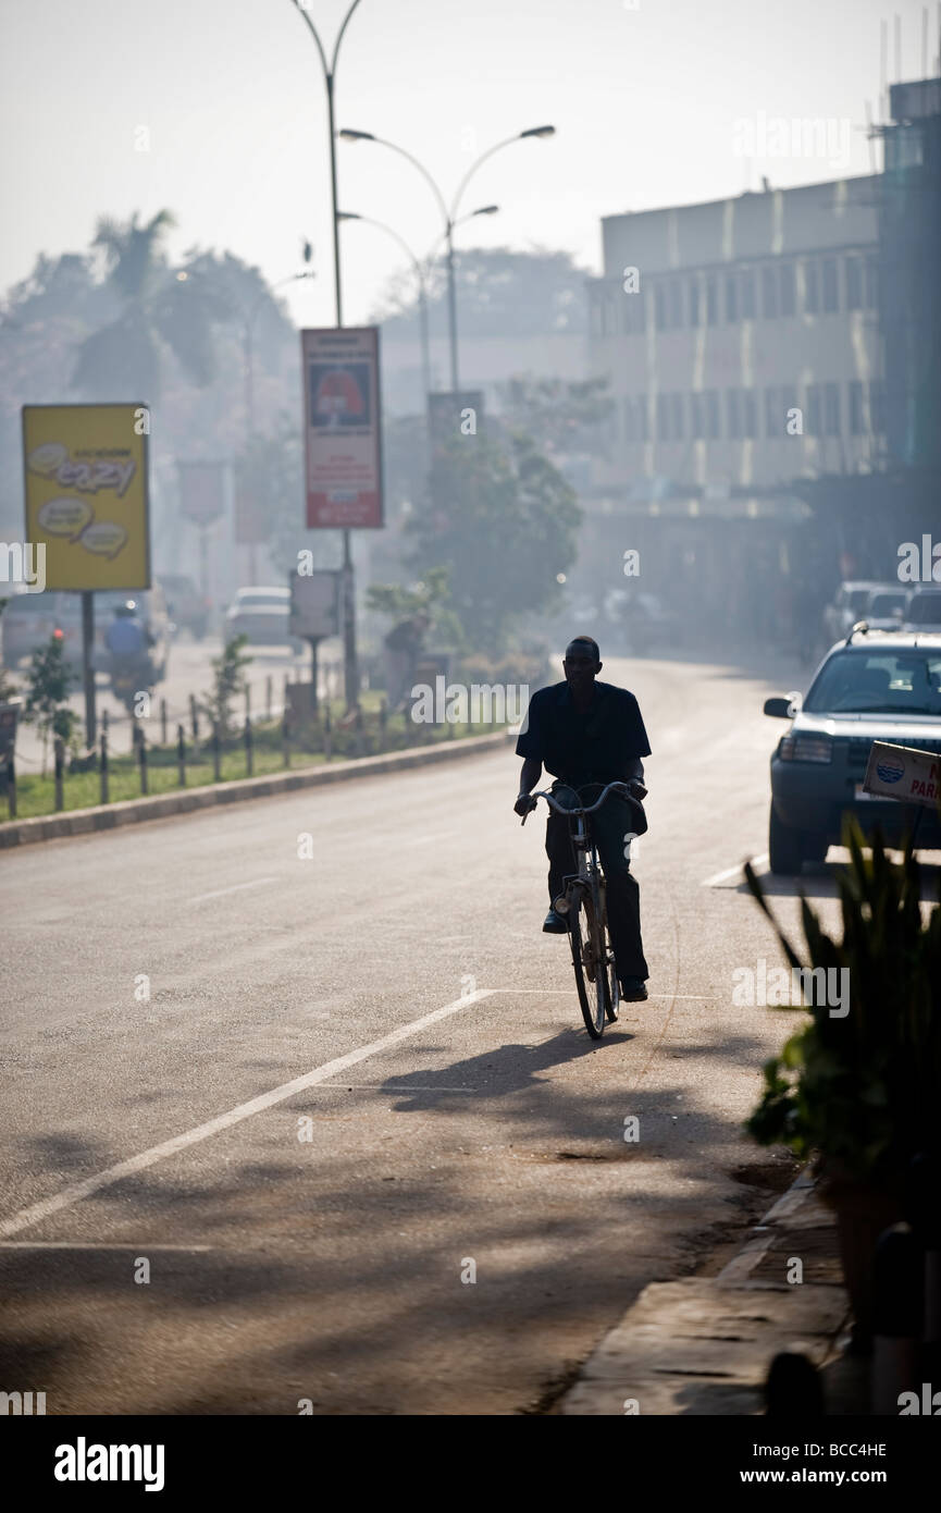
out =
[[(307, 0), (331, 48), (348, 0)], [(879, 23), (902, 17), (902, 77), (921, 77), (918, 0), (360, 0), (337, 68), (337, 126), (421, 157), (451, 195), (501, 138), (557, 136), (486, 163), (463, 209), (501, 213), (461, 245), (561, 247), (598, 269), (599, 218), (738, 194), (759, 176), (809, 183), (870, 169)], [(938, 53), (930, 6), (929, 59)], [(0, 0), (0, 289), (36, 253), (86, 247), (95, 218), (179, 219), (198, 244), (271, 280), (315, 244), (318, 278), (286, 294), (301, 324), (330, 324), (333, 263), (325, 91), (292, 0)], [(930, 71), (930, 70), (929, 70)], [(761, 124), (834, 123), (838, 166), (781, 156)], [(741, 123), (749, 123), (743, 126)], [(846, 132), (846, 136), (841, 133)], [(147, 147), (148, 150), (139, 150)], [(846, 162), (841, 159), (846, 157)], [(440, 230), (413, 168), (374, 144), (337, 145), (340, 209), (390, 222), (424, 254)], [(392, 241), (342, 231), (345, 318), (366, 319), (402, 266)]]

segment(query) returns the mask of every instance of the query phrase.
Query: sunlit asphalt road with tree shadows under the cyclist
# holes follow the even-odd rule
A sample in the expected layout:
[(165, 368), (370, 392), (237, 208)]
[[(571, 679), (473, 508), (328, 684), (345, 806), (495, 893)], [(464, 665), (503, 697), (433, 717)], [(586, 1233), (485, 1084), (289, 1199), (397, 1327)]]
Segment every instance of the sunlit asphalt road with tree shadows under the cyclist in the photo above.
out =
[[(652, 996), (601, 1045), (540, 934), (510, 746), (5, 853), (6, 1390), (528, 1412), (761, 1210), (773, 1160), (740, 1124), (793, 1021), (732, 1005), (737, 967), (779, 962), (738, 864), (766, 852), (761, 702), (802, 678), (607, 675), (654, 746)], [(834, 865), (805, 878), (829, 917)]]

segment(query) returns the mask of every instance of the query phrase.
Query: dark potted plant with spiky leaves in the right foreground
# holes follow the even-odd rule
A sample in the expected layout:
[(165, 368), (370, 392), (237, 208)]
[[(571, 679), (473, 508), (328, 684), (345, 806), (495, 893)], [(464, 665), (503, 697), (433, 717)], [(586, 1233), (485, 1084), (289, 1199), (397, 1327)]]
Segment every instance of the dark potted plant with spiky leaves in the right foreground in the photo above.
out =
[[(775, 924), (791, 970), (849, 971), (849, 1008), (800, 1005), (797, 1033), (764, 1067), (764, 1088), (746, 1129), (761, 1145), (788, 1145), (814, 1157), (821, 1195), (837, 1212), (855, 1341), (865, 1347), (871, 1315), (871, 1254), (877, 1236), (908, 1216), (912, 1157), (941, 1153), (941, 911), (921, 906), (921, 878), (911, 846), (887, 856), (876, 835), (871, 855), (847, 819), (849, 867), (837, 875), (843, 937), (828, 935), (800, 896), (808, 961), (802, 962), (775, 920), (761, 884), (746, 879)], [(806, 979), (802, 979), (806, 980)]]

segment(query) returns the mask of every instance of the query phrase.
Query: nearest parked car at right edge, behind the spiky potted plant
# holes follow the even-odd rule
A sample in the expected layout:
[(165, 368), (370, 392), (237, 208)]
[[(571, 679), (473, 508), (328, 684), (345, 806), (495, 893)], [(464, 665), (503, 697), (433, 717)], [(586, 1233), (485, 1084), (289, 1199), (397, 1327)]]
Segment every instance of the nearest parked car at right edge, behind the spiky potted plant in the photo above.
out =
[[(941, 752), (941, 634), (856, 632), (828, 652), (803, 702), (766, 699), (764, 713), (793, 722), (772, 756), (772, 871), (823, 861), (847, 811), (897, 844), (911, 808), (864, 793), (862, 778), (873, 741)], [(935, 809), (921, 816), (918, 844), (941, 846)]]

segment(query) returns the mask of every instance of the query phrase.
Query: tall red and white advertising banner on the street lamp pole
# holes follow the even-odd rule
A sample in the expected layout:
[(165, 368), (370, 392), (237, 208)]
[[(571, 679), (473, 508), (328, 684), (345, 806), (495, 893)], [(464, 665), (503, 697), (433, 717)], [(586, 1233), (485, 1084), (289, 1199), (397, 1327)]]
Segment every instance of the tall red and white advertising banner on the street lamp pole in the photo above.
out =
[(381, 530), (378, 327), (301, 331), (307, 530)]

